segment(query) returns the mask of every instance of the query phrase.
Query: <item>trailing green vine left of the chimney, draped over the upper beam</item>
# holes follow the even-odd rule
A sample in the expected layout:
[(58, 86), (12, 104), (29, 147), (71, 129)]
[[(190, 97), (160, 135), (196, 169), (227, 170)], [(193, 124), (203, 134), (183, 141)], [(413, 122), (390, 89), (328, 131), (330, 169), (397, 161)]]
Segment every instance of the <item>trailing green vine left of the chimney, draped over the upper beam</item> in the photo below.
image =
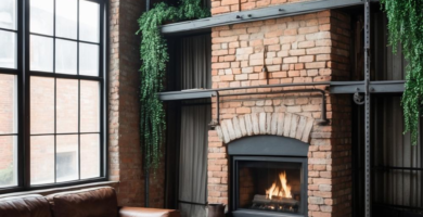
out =
[(140, 54), (142, 65), (140, 85), (140, 130), (145, 164), (144, 168), (154, 170), (159, 165), (161, 145), (164, 142), (166, 129), (165, 111), (157, 92), (164, 90), (166, 64), (169, 60), (166, 39), (162, 36), (159, 26), (165, 22), (178, 22), (209, 16), (209, 9), (203, 9), (201, 0), (182, 0), (179, 7), (164, 2), (157, 3), (138, 20), (141, 34)]

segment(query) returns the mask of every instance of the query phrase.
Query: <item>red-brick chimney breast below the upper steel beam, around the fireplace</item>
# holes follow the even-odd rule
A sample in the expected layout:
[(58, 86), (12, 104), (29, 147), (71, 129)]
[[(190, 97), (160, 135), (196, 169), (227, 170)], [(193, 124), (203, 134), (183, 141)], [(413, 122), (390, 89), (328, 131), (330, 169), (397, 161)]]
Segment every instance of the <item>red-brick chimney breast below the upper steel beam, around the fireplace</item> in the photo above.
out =
[[(349, 35), (349, 16), (337, 11), (215, 27), (213, 88), (266, 85), (261, 74), (264, 63), (270, 85), (347, 79)], [(319, 126), (315, 122), (308, 140), (308, 216), (350, 216), (350, 99), (326, 95), (330, 124)], [(315, 94), (299, 93), (230, 97), (220, 103), (221, 119), (257, 113), (319, 119), (322, 101)], [(216, 101), (213, 107), (216, 118)], [(228, 144), (221, 142), (215, 130), (209, 131), (208, 141), (208, 202), (227, 204)]]

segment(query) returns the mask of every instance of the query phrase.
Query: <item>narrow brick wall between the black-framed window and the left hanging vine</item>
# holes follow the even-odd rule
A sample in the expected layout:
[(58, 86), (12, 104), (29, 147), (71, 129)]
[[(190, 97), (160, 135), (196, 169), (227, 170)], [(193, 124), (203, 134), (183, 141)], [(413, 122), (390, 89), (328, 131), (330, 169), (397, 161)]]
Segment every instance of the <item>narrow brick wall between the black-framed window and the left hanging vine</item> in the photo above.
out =
[[(110, 174), (119, 181), (120, 205), (144, 205), (144, 175), (139, 131), (139, 0), (112, 0), (110, 7)], [(162, 165), (164, 166), (164, 165)], [(150, 206), (164, 206), (164, 167), (150, 176)]]

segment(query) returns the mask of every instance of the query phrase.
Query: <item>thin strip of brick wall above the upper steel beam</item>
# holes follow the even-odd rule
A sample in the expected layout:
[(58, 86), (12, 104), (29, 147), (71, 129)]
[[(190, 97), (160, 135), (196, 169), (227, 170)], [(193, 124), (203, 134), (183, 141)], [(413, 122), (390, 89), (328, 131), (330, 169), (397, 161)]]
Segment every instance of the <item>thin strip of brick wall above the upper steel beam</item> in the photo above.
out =
[(211, 14), (223, 14), (252, 9), (266, 8), (284, 3), (312, 0), (211, 0)]

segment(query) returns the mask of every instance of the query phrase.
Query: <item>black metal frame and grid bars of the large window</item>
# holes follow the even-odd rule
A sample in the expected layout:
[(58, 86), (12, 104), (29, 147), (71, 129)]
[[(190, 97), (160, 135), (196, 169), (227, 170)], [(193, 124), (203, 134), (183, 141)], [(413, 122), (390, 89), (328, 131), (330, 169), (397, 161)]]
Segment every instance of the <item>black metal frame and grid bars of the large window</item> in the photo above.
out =
[[(55, 2), (57, 0), (53, 0), (54, 3), (54, 12), (55, 12)], [(79, 23), (79, 2), (78, 1), (78, 23)], [(55, 68), (53, 67), (53, 73), (46, 72), (35, 72), (30, 71), (29, 64), (29, 47), (30, 47), (30, 35), (43, 36), (39, 34), (30, 34), (30, 0), (16, 0), (16, 30), (10, 30), (0, 28), (0, 30), (14, 31), (17, 35), (16, 38), (16, 68), (2, 68), (0, 67), (0, 74), (7, 75), (15, 75), (17, 82), (17, 186), (14, 187), (5, 187), (0, 188), (1, 193), (11, 193), (17, 191), (27, 191), (27, 190), (38, 190), (38, 189), (49, 189), (49, 188), (57, 188), (57, 187), (68, 187), (75, 184), (84, 184), (90, 182), (99, 182), (99, 181), (107, 181), (108, 180), (108, 161), (107, 161), (107, 135), (108, 135), (108, 125), (107, 125), (107, 111), (108, 111), (108, 0), (85, 0), (99, 3), (99, 76), (86, 76), (78, 75), (79, 68), (77, 66), (77, 75), (67, 75), (67, 74), (56, 74), (54, 73)], [(49, 36), (53, 39), (64, 39), (55, 36), (55, 14), (54, 14), (54, 23), (53, 23), (53, 36)], [(78, 25), (79, 26), (79, 25)], [(79, 27), (77, 28), (77, 39), (67, 39), (68, 41), (77, 42), (87, 42), (84, 40), (79, 40)], [(88, 41), (89, 42), (89, 41)], [(53, 42), (54, 44), (55, 42)], [(91, 42), (91, 44), (93, 44)], [(55, 47), (53, 47), (53, 64), (55, 58)], [(77, 46), (77, 64), (79, 65), (79, 46)], [(54, 78), (54, 82), (56, 79), (73, 79), (78, 81), (78, 101), (80, 99), (80, 81), (98, 81), (100, 85), (100, 126), (99, 126), (99, 135), (100, 135), (100, 176), (97, 178), (89, 178), (84, 180), (74, 180), (59, 183), (48, 183), (48, 184), (30, 184), (30, 76), (36, 77), (49, 77)], [(54, 90), (56, 86), (54, 86)], [(55, 94), (55, 93), (54, 93)], [(55, 106), (55, 104), (54, 104)], [(80, 132), (80, 107), (78, 106), (78, 155), (80, 156), (80, 135), (85, 132)], [(56, 119), (54, 119), (54, 123)], [(52, 133), (49, 133), (52, 135)], [(56, 129), (54, 129), (54, 137), (56, 133)], [(64, 133), (68, 135), (68, 133)], [(55, 146), (54, 142), (54, 146)], [(56, 155), (56, 153), (54, 154)], [(80, 162), (80, 157), (79, 162)], [(80, 167), (80, 164), (79, 164)], [(53, 165), (54, 174), (56, 173), (55, 166)], [(80, 169), (79, 169), (79, 178), (80, 178)], [(54, 178), (55, 179), (55, 178)]]

